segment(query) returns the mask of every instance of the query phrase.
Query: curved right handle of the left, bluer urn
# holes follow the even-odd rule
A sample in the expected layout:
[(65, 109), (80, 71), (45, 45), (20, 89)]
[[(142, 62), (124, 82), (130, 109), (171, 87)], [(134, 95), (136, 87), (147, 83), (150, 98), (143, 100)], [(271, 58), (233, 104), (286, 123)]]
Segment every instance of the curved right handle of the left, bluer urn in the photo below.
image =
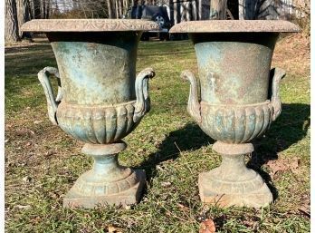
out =
[(141, 118), (150, 111), (150, 97), (148, 95), (148, 79), (156, 75), (152, 68), (146, 68), (136, 78), (136, 97), (135, 113), (133, 121), (138, 122)]

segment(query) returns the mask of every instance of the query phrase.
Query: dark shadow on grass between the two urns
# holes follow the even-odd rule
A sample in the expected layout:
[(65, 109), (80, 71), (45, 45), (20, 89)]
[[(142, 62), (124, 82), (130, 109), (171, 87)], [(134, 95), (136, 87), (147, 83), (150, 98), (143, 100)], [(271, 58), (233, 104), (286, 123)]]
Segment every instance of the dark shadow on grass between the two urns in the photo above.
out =
[(157, 152), (150, 154), (148, 160), (143, 161), (139, 168), (146, 170), (150, 182), (157, 174), (157, 164), (165, 160), (176, 160), (181, 151), (197, 150), (212, 143), (214, 141), (201, 131), (197, 124), (187, 123), (182, 129), (171, 131), (158, 146)]

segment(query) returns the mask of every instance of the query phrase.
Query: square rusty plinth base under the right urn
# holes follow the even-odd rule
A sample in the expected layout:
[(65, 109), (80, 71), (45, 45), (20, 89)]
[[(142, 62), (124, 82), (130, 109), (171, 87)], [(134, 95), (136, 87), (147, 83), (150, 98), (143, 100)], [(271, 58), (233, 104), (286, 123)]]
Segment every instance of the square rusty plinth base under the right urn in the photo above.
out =
[(199, 196), (205, 204), (216, 205), (222, 208), (237, 206), (260, 209), (272, 203), (272, 193), (266, 184), (252, 192), (220, 193), (219, 190), (211, 189), (210, 187), (212, 186), (207, 181), (205, 173), (199, 174)]

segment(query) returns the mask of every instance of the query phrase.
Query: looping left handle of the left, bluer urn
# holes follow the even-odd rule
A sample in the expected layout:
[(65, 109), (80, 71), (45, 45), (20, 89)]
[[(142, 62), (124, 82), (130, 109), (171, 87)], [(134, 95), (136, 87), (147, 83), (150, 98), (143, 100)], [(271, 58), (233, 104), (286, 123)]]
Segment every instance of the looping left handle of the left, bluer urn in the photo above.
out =
[[(56, 98), (53, 96), (52, 83), (49, 80), (50, 74), (53, 74), (58, 81), (58, 93)], [(56, 112), (58, 104), (62, 100), (62, 85), (60, 82), (58, 69), (54, 67), (45, 67), (38, 73), (38, 79), (43, 85), (43, 91), (46, 95), (49, 120), (52, 121), (52, 124), (58, 125)]]

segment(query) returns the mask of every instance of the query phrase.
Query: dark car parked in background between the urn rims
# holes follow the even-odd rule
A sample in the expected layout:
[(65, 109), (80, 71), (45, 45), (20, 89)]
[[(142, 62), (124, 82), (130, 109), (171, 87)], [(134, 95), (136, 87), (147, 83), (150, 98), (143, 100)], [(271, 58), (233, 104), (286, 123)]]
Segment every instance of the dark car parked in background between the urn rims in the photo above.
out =
[(148, 41), (149, 37), (158, 36), (163, 40), (169, 40), (168, 31), (172, 24), (170, 23), (167, 7), (157, 5), (135, 5), (127, 12), (125, 18), (152, 20), (159, 25), (158, 31), (144, 32), (141, 36), (142, 41)]

